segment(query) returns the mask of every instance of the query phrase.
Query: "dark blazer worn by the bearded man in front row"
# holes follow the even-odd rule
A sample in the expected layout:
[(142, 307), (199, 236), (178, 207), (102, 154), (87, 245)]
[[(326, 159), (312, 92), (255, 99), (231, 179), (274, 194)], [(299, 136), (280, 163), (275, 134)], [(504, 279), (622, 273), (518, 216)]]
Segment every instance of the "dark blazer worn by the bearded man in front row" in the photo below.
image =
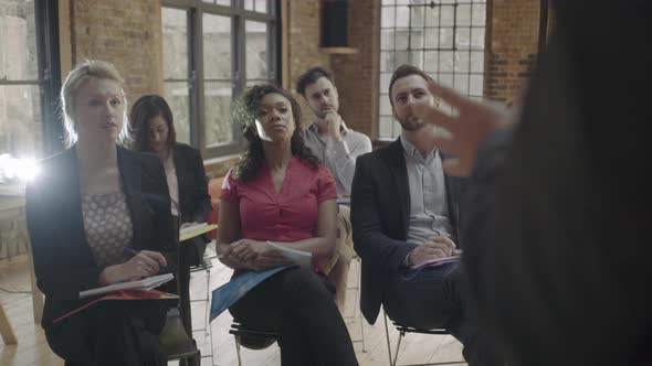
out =
[[(459, 196), (462, 180), (445, 175), (451, 225), (460, 238)], [(360, 309), (374, 324), (382, 301), (383, 283), (396, 276), (406, 256), (417, 246), (408, 244), (410, 192), (400, 139), (358, 158), (351, 186), (354, 247), (362, 259)]]

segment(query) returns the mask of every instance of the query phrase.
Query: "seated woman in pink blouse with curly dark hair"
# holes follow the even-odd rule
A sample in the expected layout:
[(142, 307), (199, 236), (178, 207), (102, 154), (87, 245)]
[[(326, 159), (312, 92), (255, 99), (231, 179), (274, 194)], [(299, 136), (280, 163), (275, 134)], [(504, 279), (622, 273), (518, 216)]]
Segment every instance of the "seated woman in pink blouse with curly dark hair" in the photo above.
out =
[(278, 329), (282, 365), (357, 365), (335, 287), (320, 271), (335, 249), (335, 181), (304, 144), (298, 104), (278, 87), (253, 86), (234, 118), (249, 148), (222, 187), (220, 260), (235, 276), (287, 265), (270, 240), (311, 251), (315, 270), (281, 271), (230, 311), (244, 324)]

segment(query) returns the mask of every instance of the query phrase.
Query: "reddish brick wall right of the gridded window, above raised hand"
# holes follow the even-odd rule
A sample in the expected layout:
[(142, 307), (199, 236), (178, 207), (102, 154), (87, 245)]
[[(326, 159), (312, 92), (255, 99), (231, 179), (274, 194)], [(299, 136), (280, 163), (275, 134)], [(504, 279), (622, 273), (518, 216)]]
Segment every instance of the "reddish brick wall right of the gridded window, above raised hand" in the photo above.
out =
[(506, 101), (520, 90), (538, 52), (539, 0), (488, 0), (484, 95)]

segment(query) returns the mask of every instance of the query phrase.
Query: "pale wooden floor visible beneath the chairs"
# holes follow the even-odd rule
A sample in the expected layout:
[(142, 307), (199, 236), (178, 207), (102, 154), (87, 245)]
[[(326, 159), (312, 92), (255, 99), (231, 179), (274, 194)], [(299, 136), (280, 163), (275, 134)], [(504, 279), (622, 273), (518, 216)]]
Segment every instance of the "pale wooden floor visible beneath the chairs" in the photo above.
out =
[[(210, 249), (209, 249), (210, 250)], [(354, 261), (349, 276), (349, 283), (355, 287), (357, 283), (358, 267)], [(219, 261), (213, 261), (210, 270), (210, 288), (214, 289), (228, 281), (231, 270)], [(63, 365), (48, 346), (43, 331), (39, 324), (34, 324), (32, 317), (32, 301), (28, 293), (8, 293), (9, 291), (29, 291), (30, 279), (24, 255), (13, 257), (11, 260), (0, 260), (0, 302), (4, 305), (11, 322), (18, 345), (7, 346), (0, 343), (0, 365)], [(238, 365), (238, 356), (233, 336), (228, 333), (231, 324), (229, 312), (217, 317), (206, 331), (206, 299), (207, 273), (196, 272), (191, 280), (192, 319), (194, 338), (201, 348), (201, 365)], [(349, 289), (347, 295), (347, 309), (345, 320), (355, 341), (356, 355), (360, 365), (389, 365), (387, 341), (382, 317), (378, 319), (375, 325), (364, 322), (365, 345), (362, 347), (360, 333), (359, 309), (355, 306), (356, 290)], [(354, 309), (355, 308), (355, 309)], [(355, 311), (355, 315), (354, 315)], [(396, 347), (398, 332), (390, 324), (390, 343), (392, 349)], [(212, 345), (212, 346), (211, 346)], [(280, 365), (281, 357), (276, 344), (267, 349), (251, 351), (243, 348), (243, 365), (262, 366)], [(462, 360), (461, 344), (452, 336), (441, 335), (416, 335), (408, 334), (401, 344), (399, 364), (421, 364), (439, 362)], [(170, 365), (177, 365), (171, 362)], [(465, 365), (465, 364), (462, 364)]]

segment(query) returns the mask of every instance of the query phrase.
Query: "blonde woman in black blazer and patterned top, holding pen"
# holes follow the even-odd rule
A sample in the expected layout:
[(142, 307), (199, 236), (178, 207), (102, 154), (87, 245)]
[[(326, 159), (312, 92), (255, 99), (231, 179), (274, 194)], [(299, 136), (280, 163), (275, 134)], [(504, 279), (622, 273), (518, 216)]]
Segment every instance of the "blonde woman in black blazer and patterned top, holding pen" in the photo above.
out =
[[(166, 365), (158, 344), (161, 302), (102, 301), (54, 322), (88, 301), (78, 299), (80, 291), (175, 266), (162, 165), (120, 147), (128, 123), (116, 68), (99, 61), (78, 65), (61, 99), (69, 149), (41, 161), (27, 191), (48, 343), (66, 365)], [(130, 257), (125, 247), (138, 254)]]

